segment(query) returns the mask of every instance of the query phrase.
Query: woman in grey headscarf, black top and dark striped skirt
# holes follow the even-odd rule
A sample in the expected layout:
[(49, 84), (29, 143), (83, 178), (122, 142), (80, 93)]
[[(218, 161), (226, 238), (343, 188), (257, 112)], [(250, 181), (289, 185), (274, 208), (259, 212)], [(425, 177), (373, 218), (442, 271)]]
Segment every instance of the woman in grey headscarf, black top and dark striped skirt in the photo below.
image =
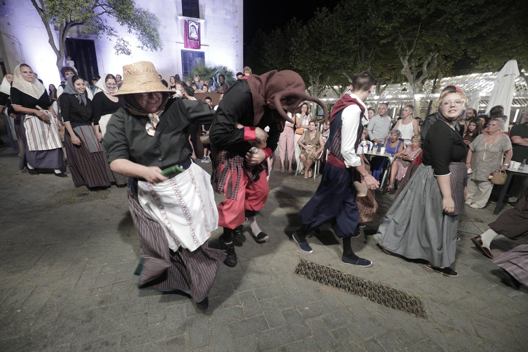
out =
[(91, 100), (84, 90), (84, 80), (71, 76), (59, 99), (68, 166), (75, 186), (110, 187), (107, 163), (92, 127)]

